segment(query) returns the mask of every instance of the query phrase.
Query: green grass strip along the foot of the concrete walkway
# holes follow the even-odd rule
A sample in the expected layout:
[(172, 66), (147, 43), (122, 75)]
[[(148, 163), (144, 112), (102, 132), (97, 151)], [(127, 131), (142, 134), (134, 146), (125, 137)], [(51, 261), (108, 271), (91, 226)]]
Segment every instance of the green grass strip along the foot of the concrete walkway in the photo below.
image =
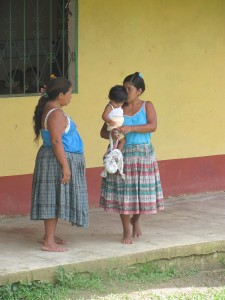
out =
[[(145, 263), (107, 270), (104, 273), (68, 272), (58, 268), (55, 284), (42, 281), (19, 282), (0, 287), (0, 300), (224, 300), (225, 288), (156, 292), (151, 285), (176, 278), (185, 280), (197, 270), (179, 272), (163, 270), (156, 264)], [(223, 273), (224, 275), (224, 273)], [(96, 296), (94, 296), (96, 294)]]

